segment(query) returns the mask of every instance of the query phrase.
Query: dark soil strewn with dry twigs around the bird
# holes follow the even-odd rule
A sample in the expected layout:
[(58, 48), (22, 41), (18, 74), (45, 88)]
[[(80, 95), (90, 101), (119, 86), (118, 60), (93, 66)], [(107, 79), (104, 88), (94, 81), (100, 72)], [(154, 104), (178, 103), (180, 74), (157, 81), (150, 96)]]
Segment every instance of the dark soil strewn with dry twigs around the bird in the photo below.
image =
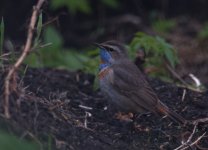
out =
[[(75, 150), (174, 149), (192, 132), (192, 125), (182, 127), (154, 114), (138, 116), (134, 123), (117, 120), (115, 107), (100, 91), (93, 91), (93, 80), (94, 76), (81, 72), (28, 69), (19, 75), (18, 90), (10, 96), (11, 119), (1, 117), (2, 126), (25, 138), (33, 135), (43, 147), (52, 138), (54, 149)], [(208, 92), (187, 90), (182, 101), (183, 88), (155, 79), (150, 84), (161, 101), (186, 119), (208, 117)], [(204, 132), (208, 125), (200, 123), (192, 141)], [(198, 145), (208, 147), (207, 136)]]

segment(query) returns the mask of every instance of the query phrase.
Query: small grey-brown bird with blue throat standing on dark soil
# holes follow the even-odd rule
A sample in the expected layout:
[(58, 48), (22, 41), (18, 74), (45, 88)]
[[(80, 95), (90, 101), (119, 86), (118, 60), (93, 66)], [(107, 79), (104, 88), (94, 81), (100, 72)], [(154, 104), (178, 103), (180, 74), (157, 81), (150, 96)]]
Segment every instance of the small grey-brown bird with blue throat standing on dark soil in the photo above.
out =
[(168, 116), (179, 124), (186, 124), (186, 119), (170, 110), (158, 98), (144, 74), (128, 58), (122, 43), (106, 41), (95, 45), (100, 49), (100, 89), (113, 104), (127, 112), (152, 112)]

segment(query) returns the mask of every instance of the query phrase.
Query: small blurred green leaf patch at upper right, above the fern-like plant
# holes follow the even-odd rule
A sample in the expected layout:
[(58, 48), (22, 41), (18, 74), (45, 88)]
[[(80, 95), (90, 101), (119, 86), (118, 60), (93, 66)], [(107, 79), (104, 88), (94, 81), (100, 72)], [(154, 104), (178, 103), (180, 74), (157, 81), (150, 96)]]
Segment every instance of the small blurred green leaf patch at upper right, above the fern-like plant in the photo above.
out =
[(176, 26), (175, 20), (158, 19), (153, 21), (152, 28), (160, 33), (170, 32)]

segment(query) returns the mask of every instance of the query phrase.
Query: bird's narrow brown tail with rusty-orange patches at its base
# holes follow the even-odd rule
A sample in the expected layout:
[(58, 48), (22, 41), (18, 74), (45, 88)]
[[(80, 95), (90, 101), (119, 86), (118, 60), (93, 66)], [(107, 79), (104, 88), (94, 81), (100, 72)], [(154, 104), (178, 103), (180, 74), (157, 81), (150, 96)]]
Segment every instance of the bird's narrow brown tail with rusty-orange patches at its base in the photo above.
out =
[(156, 105), (156, 109), (159, 113), (162, 113), (164, 115), (167, 115), (170, 117), (173, 121), (178, 122), (179, 124), (185, 125), (187, 123), (187, 120), (184, 119), (182, 116), (177, 114), (174, 111), (171, 111), (167, 106), (165, 106), (162, 102), (158, 102)]

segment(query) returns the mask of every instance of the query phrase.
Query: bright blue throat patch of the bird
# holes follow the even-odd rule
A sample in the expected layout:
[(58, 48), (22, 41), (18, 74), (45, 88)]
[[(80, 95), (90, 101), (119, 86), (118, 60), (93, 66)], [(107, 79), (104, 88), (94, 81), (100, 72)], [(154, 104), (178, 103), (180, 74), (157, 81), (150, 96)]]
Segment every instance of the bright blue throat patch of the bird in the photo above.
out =
[(110, 60), (112, 59), (112, 57), (105, 49), (100, 49), (100, 58), (102, 63), (99, 66), (99, 70), (103, 70), (104, 68), (111, 65)]

